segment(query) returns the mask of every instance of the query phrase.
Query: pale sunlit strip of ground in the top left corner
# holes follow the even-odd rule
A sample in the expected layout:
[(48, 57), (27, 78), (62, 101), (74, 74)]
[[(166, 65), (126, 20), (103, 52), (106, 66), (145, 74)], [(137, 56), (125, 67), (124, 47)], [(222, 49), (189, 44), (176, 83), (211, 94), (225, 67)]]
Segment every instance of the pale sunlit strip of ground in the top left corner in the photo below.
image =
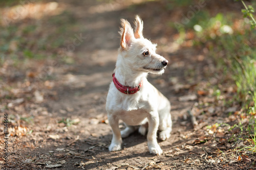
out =
[(40, 4), (19, 4), (13, 7), (0, 8), (0, 25), (9, 26), (10, 23), (25, 18), (40, 19), (44, 16), (57, 15), (63, 9), (56, 2)]

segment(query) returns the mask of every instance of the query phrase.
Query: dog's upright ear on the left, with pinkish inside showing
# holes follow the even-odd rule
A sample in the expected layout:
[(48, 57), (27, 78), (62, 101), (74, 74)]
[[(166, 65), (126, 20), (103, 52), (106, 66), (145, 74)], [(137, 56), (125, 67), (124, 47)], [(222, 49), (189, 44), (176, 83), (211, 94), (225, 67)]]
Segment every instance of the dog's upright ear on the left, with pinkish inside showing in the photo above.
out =
[(120, 45), (123, 48), (123, 50), (128, 50), (134, 38), (133, 29), (130, 23), (125, 19), (121, 19), (121, 25), (122, 25), (122, 28), (120, 29), (120, 32), (119, 32), (121, 35)]

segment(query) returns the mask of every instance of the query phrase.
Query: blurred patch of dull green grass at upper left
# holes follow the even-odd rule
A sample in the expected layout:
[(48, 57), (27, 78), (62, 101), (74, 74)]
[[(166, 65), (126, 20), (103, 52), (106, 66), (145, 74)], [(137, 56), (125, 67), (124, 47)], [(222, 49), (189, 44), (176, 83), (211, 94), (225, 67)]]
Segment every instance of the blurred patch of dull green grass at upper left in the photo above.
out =
[(64, 10), (59, 15), (27, 19), (26, 23), (20, 20), (11, 22), (9, 26), (0, 25), (0, 30), (1, 66), (7, 59), (20, 64), (27, 59), (54, 58), (58, 49), (65, 48), (73, 42), (75, 34), (84, 31), (84, 26), (74, 14)]

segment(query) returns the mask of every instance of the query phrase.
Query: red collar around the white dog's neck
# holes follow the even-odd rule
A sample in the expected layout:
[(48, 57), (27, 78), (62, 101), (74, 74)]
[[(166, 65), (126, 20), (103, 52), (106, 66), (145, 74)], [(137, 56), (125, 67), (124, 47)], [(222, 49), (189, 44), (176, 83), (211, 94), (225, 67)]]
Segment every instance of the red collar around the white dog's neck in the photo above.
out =
[(116, 79), (114, 73), (113, 73), (112, 77), (113, 77), (113, 82), (114, 82), (116, 88), (117, 88), (120, 92), (122, 92), (122, 93), (124, 93), (124, 94), (134, 94), (134, 93), (140, 91), (140, 88), (141, 88), (141, 86), (142, 86), (142, 81), (141, 81), (141, 82), (139, 83), (139, 85), (136, 86), (135, 88), (128, 87), (128, 86), (123, 86), (123, 85), (121, 85), (121, 84), (117, 81), (117, 79)]

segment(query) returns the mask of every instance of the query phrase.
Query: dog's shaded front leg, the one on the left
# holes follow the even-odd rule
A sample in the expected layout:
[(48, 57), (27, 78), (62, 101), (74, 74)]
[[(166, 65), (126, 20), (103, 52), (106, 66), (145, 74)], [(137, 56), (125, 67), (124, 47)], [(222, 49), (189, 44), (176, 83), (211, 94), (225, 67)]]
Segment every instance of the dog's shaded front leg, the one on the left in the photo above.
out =
[(113, 131), (113, 137), (112, 141), (109, 147), (110, 151), (119, 151), (121, 150), (121, 143), (122, 143), (122, 138), (121, 138), (121, 133), (120, 129), (118, 126), (118, 118), (116, 116), (109, 115), (108, 116), (110, 126)]

